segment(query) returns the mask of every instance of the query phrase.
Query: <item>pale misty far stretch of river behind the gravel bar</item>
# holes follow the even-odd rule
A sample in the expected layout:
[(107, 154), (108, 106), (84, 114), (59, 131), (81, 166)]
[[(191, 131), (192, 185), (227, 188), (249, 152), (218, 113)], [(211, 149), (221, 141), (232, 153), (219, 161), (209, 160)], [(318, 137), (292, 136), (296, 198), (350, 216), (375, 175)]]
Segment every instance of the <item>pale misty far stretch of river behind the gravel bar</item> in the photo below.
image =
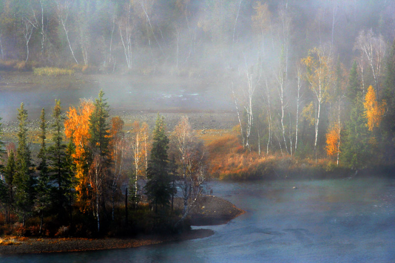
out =
[[(193, 82), (179, 84), (175, 80), (168, 83), (145, 84), (144, 82), (97, 82), (73, 89), (44, 88), (32, 90), (0, 90), (0, 117), (3, 121), (16, 120), (21, 102), (28, 110), (29, 119), (37, 119), (45, 108), (51, 112), (55, 99), (60, 99), (64, 111), (70, 105), (78, 105), (80, 98), (97, 98), (103, 89), (105, 98), (113, 109), (134, 111), (218, 111), (233, 110), (229, 90), (216, 87), (197, 86)], [(229, 94), (228, 94), (229, 93)]]

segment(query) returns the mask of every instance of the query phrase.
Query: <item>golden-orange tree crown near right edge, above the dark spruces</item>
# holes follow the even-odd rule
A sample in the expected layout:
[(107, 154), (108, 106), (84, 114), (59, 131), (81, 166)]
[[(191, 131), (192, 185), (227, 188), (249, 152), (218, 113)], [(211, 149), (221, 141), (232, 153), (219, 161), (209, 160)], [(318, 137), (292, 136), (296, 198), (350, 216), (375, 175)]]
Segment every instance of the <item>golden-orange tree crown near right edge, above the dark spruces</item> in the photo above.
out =
[(365, 117), (367, 118), (367, 126), (369, 131), (373, 131), (374, 127), (378, 127), (381, 123), (386, 109), (386, 102), (381, 104), (377, 101), (376, 92), (372, 86), (369, 86), (363, 102), (365, 108)]

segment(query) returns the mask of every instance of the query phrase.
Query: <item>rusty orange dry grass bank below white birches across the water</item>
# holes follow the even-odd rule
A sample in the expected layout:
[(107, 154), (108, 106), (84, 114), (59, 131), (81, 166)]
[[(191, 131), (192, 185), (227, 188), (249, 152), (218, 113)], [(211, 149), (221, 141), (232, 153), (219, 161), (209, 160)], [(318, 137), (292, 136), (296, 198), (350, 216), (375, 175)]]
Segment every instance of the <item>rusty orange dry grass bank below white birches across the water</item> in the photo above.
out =
[[(344, 174), (330, 158), (299, 158), (290, 155), (261, 154), (243, 149), (237, 133), (207, 130), (200, 136), (209, 152), (209, 172), (219, 179), (249, 180), (291, 177), (326, 177)], [(347, 171), (346, 171), (347, 172)]]

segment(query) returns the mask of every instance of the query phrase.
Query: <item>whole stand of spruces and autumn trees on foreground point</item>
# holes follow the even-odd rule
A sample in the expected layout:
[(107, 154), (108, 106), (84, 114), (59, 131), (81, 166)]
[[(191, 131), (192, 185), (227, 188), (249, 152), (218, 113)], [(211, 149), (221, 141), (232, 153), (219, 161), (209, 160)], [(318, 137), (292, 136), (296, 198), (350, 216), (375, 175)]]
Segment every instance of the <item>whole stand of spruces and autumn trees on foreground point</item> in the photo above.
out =
[[(172, 218), (170, 229), (183, 225), (207, 179), (206, 153), (187, 117), (169, 134), (158, 114), (152, 136), (146, 123), (135, 121), (131, 136), (126, 136), (122, 119), (115, 116), (110, 120), (103, 91), (95, 102), (81, 99), (79, 107), (70, 107), (66, 117), (61, 102), (55, 100), (51, 116), (52, 134), (48, 134), (42, 109), (37, 159), (32, 159), (23, 103), (18, 109), (17, 149), (9, 144), (4, 150), (1, 142), (4, 224), (17, 221), (20, 231), (27, 231), (26, 222), (30, 220), (32, 227), (36, 218), (39, 228), (36, 225), (34, 234), (44, 235), (49, 224), (66, 227), (70, 234), (78, 232), (78, 227), (105, 233), (133, 222), (133, 213), (144, 211), (148, 202), (153, 214), (147, 217)], [(184, 207), (173, 214), (175, 195), (182, 197)], [(132, 208), (131, 218), (128, 207)], [(116, 222), (122, 225), (114, 225)]]

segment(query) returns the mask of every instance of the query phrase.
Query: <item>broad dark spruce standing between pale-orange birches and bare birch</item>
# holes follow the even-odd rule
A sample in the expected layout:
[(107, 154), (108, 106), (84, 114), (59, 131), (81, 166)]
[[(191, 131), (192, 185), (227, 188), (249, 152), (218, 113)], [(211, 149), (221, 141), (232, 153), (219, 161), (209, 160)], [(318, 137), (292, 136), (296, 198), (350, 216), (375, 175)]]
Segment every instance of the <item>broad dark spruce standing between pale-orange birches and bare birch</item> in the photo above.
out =
[(170, 201), (172, 193), (171, 177), (168, 174), (168, 149), (169, 139), (165, 133), (165, 123), (163, 116), (157, 117), (155, 129), (153, 132), (153, 144), (150, 160), (147, 167), (148, 182), (145, 190), (150, 202), (155, 205), (158, 211), (158, 205), (166, 206)]

